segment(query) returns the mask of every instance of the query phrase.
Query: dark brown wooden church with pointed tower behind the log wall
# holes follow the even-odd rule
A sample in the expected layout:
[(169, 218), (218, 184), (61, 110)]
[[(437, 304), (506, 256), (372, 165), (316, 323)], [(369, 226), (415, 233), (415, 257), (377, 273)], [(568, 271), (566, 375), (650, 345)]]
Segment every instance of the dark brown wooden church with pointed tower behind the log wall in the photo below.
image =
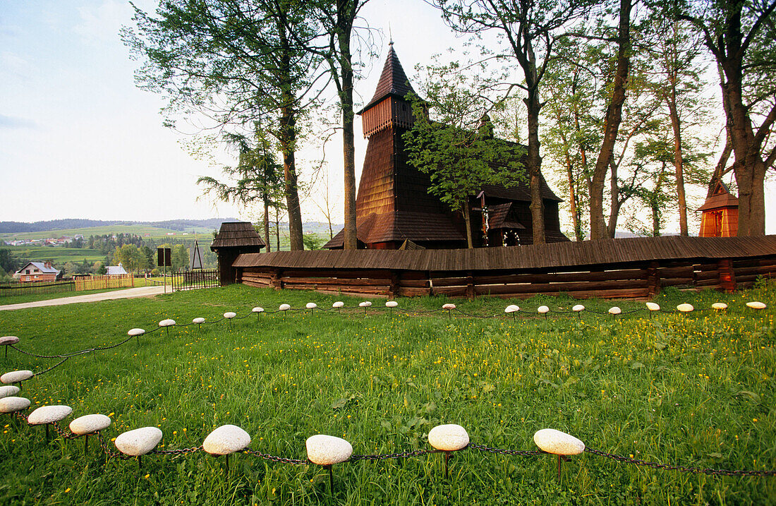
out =
[[(410, 92), (414, 90), (392, 42), (375, 95), (359, 112), (369, 139), (355, 204), (359, 248), (466, 248), (460, 213), (428, 193), (428, 175), (409, 164), (402, 134), (414, 124)], [(544, 178), (542, 199), (546, 241), (568, 241), (560, 231), (560, 199)], [(530, 204), (527, 183), (483, 186), (469, 199), (475, 246), (532, 244)], [(324, 248), (340, 249), (343, 242), (340, 231)]]

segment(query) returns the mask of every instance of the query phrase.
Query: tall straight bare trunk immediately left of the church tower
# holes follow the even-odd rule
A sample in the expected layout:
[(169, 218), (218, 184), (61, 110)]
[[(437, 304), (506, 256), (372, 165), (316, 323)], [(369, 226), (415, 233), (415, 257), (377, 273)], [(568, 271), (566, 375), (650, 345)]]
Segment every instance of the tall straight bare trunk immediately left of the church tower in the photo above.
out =
[(345, 177), (345, 249), (359, 247), (355, 218), (355, 133), (353, 132), (353, 67), (350, 38), (353, 16), (348, 0), (337, 0), (337, 36), (342, 74), (340, 105), (342, 107), (342, 151)]

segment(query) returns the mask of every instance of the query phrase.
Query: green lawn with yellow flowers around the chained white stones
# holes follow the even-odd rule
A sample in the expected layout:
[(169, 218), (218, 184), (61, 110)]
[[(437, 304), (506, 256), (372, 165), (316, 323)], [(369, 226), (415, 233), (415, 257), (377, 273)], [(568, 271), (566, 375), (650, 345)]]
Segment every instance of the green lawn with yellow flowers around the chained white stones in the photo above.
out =
[[(177, 328), (139, 344), (69, 359), (25, 384), (33, 407), (69, 404), (73, 418), (113, 413), (106, 436), (146, 425), (164, 431), (163, 449), (200, 445), (214, 427), (234, 424), (251, 447), (303, 458), (317, 433), (352, 442), (356, 453), (428, 448), (435, 425), (463, 425), (473, 442), (533, 449), (539, 428), (558, 428), (588, 446), (636, 458), (726, 469), (776, 468), (774, 310), (776, 286), (729, 296), (667, 290), (656, 302), (689, 301), (724, 313), (644, 313), (613, 320), (588, 312), (544, 320), (535, 307), (568, 309), (566, 298), (517, 301), (530, 318), (513, 323), (510, 301), (456, 301), (494, 319), (389, 317), (293, 312)], [(331, 307), (339, 297), (230, 286), (157, 296), (44, 307), (2, 314), (0, 332), (25, 350), (49, 354), (109, 345), (129, 328), (172, 317), (213, 321), (227, 310), (262, 305)], [(359, 300), (343, 297), (348, 306)], [(769, 305), (756, 312), (747, 300)], [(401, 299), (400, 307), (438, 309), (441, 298)], [(623, 310), (643, 303), (615, 302)], [(606, 301), (586, 301), (605, 311)], [(11, 351), (4, 370), (39, 371), (53, 359)], [(334, 407), (337, 406), (337, 407)], [(47, 444), (43, 428), (7, 415), (0, 435), (0, 504), (774, 504), (776, 478), (708, 477), (629, 466), (591, 454), (555, 460), (473, 450), (334, 467), (331, 497), (317, 466), (231, 459), (202, 452), (149, 456), (144, 468), (84, 456), (80, 440)]]

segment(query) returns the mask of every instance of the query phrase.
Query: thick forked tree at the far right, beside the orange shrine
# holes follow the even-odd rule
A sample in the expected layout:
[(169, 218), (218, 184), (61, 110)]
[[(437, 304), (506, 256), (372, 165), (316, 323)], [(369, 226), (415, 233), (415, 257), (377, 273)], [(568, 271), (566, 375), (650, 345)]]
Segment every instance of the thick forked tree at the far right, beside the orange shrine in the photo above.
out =
[[(765, 173), (776, 162), (776, 0), (681, 4), (719, 66), (722, 109), (738, 184), (738, 235), (765, 234)], [(758, 124), (759, 123), (759, 124)]]

